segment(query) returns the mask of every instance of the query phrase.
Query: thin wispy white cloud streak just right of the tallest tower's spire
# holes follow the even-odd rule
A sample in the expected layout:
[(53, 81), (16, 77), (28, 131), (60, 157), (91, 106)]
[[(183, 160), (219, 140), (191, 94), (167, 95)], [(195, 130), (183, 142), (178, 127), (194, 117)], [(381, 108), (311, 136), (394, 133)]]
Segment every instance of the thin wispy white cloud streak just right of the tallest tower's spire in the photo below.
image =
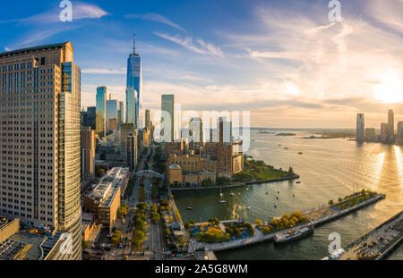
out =
[(176, 43), (179, 46), (183, 46), (186, 49), (189, 49), (195, 53), (202, 54), (202, 55), (216, 55), (216, 56), (224, 56), (222, 50), (219, 46), (214, 46), (210, 43), (204, 42), (202, 39), (197, 39), (198, 46), (193, 43), (193, 38), (186, 37), (182, 38), (178, 35), (175, 37), (169, 36), (167, 34), (154, 32), (154, 35), (165, 38), (173, 43)]

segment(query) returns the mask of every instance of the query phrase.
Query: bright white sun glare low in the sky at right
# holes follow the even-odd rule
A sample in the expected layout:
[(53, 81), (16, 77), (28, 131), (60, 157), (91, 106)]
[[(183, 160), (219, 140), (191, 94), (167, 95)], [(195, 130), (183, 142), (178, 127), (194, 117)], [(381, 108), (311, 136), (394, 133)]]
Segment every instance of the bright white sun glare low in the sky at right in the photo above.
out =
[(403, 83), (398, 72), (389, 70), (380, 78), (380, 84), (374, 88), (374, 97), (385, 104), (403, 102)]

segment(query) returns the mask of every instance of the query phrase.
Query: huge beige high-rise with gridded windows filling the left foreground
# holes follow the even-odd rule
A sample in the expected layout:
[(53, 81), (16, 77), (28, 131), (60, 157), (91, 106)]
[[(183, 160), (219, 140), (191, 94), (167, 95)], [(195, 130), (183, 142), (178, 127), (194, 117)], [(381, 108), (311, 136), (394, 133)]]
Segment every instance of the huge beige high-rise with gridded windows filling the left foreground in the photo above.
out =
[(0, 133), (0, 213), (69, 232), (72, 252), (57, 256), (81, 259), (81, 69), (73, 46), (0, 53), (0, 69), (9, 96), (0, 98), (0, 129), (13, 131)]

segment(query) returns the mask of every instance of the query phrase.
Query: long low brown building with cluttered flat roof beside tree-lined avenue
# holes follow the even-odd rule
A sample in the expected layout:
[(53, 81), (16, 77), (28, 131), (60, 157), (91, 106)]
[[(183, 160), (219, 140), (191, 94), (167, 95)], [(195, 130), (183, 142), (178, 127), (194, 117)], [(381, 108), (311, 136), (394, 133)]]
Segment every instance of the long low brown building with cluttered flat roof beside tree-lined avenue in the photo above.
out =
[(116, 221), (117, 208), (128, 180), (129, 169), (112, 168), (90, 193), (83, 196), (83, 207), (94, 215), (97, 223), (109, 227), (109, 232)]

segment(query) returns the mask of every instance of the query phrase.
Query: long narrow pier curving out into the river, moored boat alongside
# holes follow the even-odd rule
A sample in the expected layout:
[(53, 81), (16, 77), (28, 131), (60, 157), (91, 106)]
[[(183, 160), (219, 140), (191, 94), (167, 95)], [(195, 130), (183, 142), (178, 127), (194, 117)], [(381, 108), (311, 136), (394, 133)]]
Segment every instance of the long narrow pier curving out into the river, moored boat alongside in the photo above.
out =
[[(320, 225), (323, 223), (328, 223), (330, 221), (334, 221), (339, 217), (348, 215), (357, 209), (363, 208), (364, 206), (369, 206), (377, 201), (382, 200), (386, 196), (384, 194), (377, 194), (373, 198), (369, 198), (361, 203), (358, 203), (356, 206), (350, 206), (343, 210), (337, 210), (332, 206), (325, 206), (320, 207), (318, 209), (313, 209), (309, 212), (305, 212), (305, 216), (308, 217), (310, 222), (304, 223), (301, 225), (296, 226), (297, 228), (304, 228), (307, 225)], [(221, 223), (229, 223), (230, 221), (223, 221)], [(193, 252), (196, 249), (206, 249), (210, 251), (222, 251), (227, 249), (236, 249), (242, 248), (248, 245), (253, 245), (256, 243), (272, 240), (277, 232), (270, 232), (268, 234), (264, 234), (259, 229), (256, 228), (255, 224), (252, 224), (253, 229), (255, 231), (253, 237), (247, 239), (240, 239), (240, 240), (230, 240), (218, 243), (207, 243), (207, 242), (199, 242), (194, 238), (190, 239), (189, 251)], [(296, 228), (294, 227), (294, 228)], [(289, 232), (292, 228), (288, 228), (282, 230), (281, 232)], [(279, 232), (279, 231), (278, 231)]]

